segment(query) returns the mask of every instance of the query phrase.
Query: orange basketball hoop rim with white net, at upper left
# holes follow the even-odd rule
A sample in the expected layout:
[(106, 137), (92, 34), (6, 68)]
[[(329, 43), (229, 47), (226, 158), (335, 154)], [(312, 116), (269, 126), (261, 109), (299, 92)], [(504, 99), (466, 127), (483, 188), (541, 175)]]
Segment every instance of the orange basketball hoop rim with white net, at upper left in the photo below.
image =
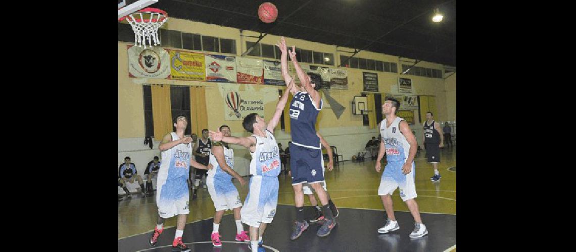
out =
[[(136, 17), (134, 17), (134, 15)], [(152, 47), (153, 41), (154, 45), (160, 45), (160, 40), (158, 40), (158, 28), (168, 20), (168, 13), (166, 13), (166, 11), (156, 8), (145, 8), (118, 18), (118, 21), (124, 19), (128, 20), (128, 23), (132, 26), (132, 30), (134, 30), (134, 40), (136, 45), (140, 47), (144, 45), (144, 48), (146, 48), (146, 40), (150, 47)]]

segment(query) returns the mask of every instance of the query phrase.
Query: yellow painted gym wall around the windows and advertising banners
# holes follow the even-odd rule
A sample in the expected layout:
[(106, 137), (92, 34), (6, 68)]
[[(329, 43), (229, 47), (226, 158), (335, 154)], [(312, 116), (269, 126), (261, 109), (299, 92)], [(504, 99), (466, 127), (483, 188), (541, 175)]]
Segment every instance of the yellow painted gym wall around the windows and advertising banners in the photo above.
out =
[[(179, 30), (181, 32), (187, 33), (197, 33), (206, 36), (214, 36), (221, 38), (230, 38), (236, 40), (236, 56), (240, 56), (242, 52), (245, 51), (245, 41), (256, 41), (257, 38), (241, 37), (240, 30), (234, 28), (227, 28), (224, 26), (203, 24), (200, 22), (180, 20), (177, 18), (169, 18), (169, 20), (162, 26), (162, 29), (169, 30)], [(260, 33), (250, 32), (244, 30), (242, 32), (244, 35), (258, 36)], [(261, 41), (264, 44), (275, 44), (279, 40), (278, 36), (272, 34), (267, 35)], [(326, 45), (316, 42), (309, 42), (304, 40), (298, 40), (295, 38), (286, 38), (287, 45), (295, 45), (298, 48), (308, 49), (312, 51), (333, 53), (335, 65), (340, 64), (340, 53), (337, 52), (335, 45)], [(166, 80), (166, 79), (146, 79), (146, 78), (131, 78), (128, 77), (128, 59), (127, 59), (127, 45), (133, 44), (128, 42), (118, 42), (118, 138), (135, 138), (144, 137), (144, 113), (143, 113), (143, 97), (142, 97), (142, 84), (171, 84), (179, 86), (206, 86), (206, 102), (209, 108), (208, 122), (210, 129), (216, 129), (222, 124), (229, 125), (232, 127), (233, 133), (242, 133), (241, 121), (224, 121), (223, 111), (224, 111), (224, 99), (220, 95), (218, 90), (218, 84), (216, 83), (206, 83), (206, 82), (194, 82), (194, 81), (184, 81), (184, 80)], [(353, 51), (351, 48), (339, 47), (340, 51)], [(222, 54), (222, 53), (217, 53)], [(351, 53), (342, 53), (342, 55), (351, 55)], [(359, 52), (354, 57), (362, 57), (366, 59), (382, 60), (393, 62), (397, 64), (398, 71), (401, 71), (400, 58), (392, 55), (384, 55), (382, 53), (374, 53), (362, 51)], [(266, 58), (263, 58), (266, 59)], [(406, 58), (401, 58), (402, 60), (409, 60)], [(269, 59), (270, 60), (270, 59)], [(305, 63), (302, 63), (305, 64)], [(409, 64), (409, 63), (404, 63)], [(314, 64), (318, 65), (318, 64)], [(429, 67), (435, 69), (444, 68), (441, 64), (420, 62), (419, 67)], [(329, 66), (335, 67), (335, 66)], [(378, 74), (378, 89), (380, 93), (397, 93), (397, 82), (398, 77), (407, 77), (412, 79), (412, 84), (414, 86), (415, 95), (433, 95), (436, 96), (435, 100), (438, 106), (438, 115), (435, 115), (435, 119), (438, 121), (445, 121), (448, 119), (447, 108), (450, 107), (450, 111), (455, 118), (455, 97), (454, 99), (446, 99), (446, 88), (452, 87), (445, 84), (443, 79), (412, 76), (412, 75), (400, 75), (400, 73), (389, 73), (389, 72), (378, 72), (369, 71), (364, 69), (354, 69), (347, 68), (348, 72), (348, 90), (329, 90), (329, 94), (337, 100), (340, 104), (346, 107), (344, 113), (339, 119), (332, 112), (331, 108), (324, 108), (319, 115), (320, 127), (326, 128), (337, 128), (337, 127), (348, 127), (348, 126), (362, 126), (362, 116), (353, 115), (351, 111), (351, 102), (354, 96), (359, 96), (363, 92), (362, 83), (362, 72), (375, 72)], [(236, 84), (240, 87), (240, 91), (245, 88), (253, 88), (256, 92), (262, 88), (283, 88), (279, 86), (260, 86), (251, 84)], [(252, 86), (252, 87), (247, 87)], [(453, 90), (456, 89), (455, 76)], [(454, 91), (455, 94), (455, 91)], [(323, 97), (324, 98), (324, 97)], [(276, 98), (277, 100), (277, 98)], [(328, 105), (327, 99), (325, 99), (325, 104)], [(452, 101), (453, 100), (453, 101)], [(447, 102), (450, 103), (447, 105)], [(275, 102), (268, 102), (265, 104), (266, 115), (265, 117), (271, 118), (275, 109)], [(277, 128), (279, 129), (279, 127)], [(244, 135), (248, 135), (245, 133)]]

